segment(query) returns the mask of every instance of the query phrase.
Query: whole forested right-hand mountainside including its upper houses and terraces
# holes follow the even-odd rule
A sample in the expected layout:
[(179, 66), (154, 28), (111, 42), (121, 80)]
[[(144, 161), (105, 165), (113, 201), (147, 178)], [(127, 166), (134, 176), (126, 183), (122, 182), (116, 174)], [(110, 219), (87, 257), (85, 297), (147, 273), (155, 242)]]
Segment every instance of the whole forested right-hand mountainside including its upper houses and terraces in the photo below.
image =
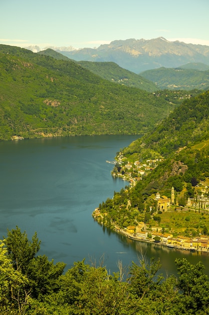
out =
[[(116, 158), (118, 164), (113, 170), (114, 174), (116, 176), (126, 172), (131, 174), (135, 185), (122, 189), (121, 192), (114, 194), (113, 199), (100, 204), (101, 213), (106, 213), (105, 222), (108, 226), (115, 224), (123, 228), (128, 225), (137, 226), (137, 222), (140, 221), (146, 222), (149, 227), (156, 225), (155, 219), (158, 218), (160, 222), (165, 215), (161, 211), (158, 212), (161, 217), (155, 213), (157, 210), (155, 194), (159, 192), (161, 196), (170, 198), (173, 187), (177, 201), (170, 208), (170, 213), (166, 214), (167, 221), (158, 224), (159, 230), (166, 229), (176, 236), (188, 237), (199, 235), (201, 232), (204, 234), (205, 228), (206, 234), (209, 234), (208, 204), (204, 204), (209, 195), (208, 104), (208, 91), (186, 100), (153, 132), (132, 142), (118, 153)], [(139, 170), (135, 167), (134, 161), (138, 161), (135, 165), (140, 167)], [(201, 194), (204, 196), (204, 202), (198, 199)], [(182, 213), (181, 224), (172, 224), (174, 221), (171, 217), (175, 220), (176, 205), (184, 207), (188, 198), (199, 201), (195, 201), (197, 208), (185, 209), (188, 211), (186, 215), (189, 217), (190, 211), (193, 213), (198, 211), (199, 217), (196, 216), (192, 221), (193, 225), (189, 225), (185, 221), (185, 213)], [(153, 209), (155, 217), (150, 215), (150, 208)], [(201, 217), (205, 213), (206, 217), (202, 222)]]

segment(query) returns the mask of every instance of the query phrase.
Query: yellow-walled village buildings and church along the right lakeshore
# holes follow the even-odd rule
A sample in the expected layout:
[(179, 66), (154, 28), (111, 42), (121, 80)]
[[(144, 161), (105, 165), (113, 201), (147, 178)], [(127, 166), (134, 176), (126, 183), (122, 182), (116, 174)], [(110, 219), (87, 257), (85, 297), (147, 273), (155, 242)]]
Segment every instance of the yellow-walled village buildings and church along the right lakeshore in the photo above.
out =
[[(109, 162), (107, 163), (115, 164), (113, 171), (111, 172), (112, 176), (120, 177), (125, 181), (129, 181), (130, 186), (134, 186), (136, 181), (142, 180), (142, 177), (145, 176), (148, 172), (151, 172), (161, 160), (147, 160), (146, 163), (140, 164), (139, 161), (131, 164), (128, 162), (124, 166), (122, 166), (123, 156), (117, 156), (117, 162)], [(117, 172), (118, 170), (118, 172)], [(133, 177), (134, 175), (134, 177)], [(201, 184), (198, 187), (198, 194), (195, 198), (188, 198), (187, 204), (182, 207), (178, 205), (178, 198), (175, 197), (174, 188), (171, 188), (171, 198), (167, 198), (166, 196), (160, 196), (159, 193), (156, 193), (153, 196), (157, 207), (156, 212), (153, 213), (153, 209), (150, 207), (150, 212), (152, 211), (152, 216), (155, 215), (158, 211), (162, 212), (184, 212), (184, 211), (197, 211), (199, 212), (200, 204), (201, 209), (204, 209), (209, 213), (209, 198), (207, 197), (208, 187), (202, 186)], [(127, 205), (128, 207), (128, 205)], [(99, 208), (96, 208), (92, 213), (92, 216), (99, 223), (103, 224), (103, 217), (106, 216), (107, 213), (101, 213)], [(203, 213), (202, 213), (203, 215)], [(188, 251), (202, 251), (209, 252), (209, 237), (207, 235), (199, 233), (198, 236), (195, 237), (185, 237), (183, 235), (177, 235), (177, 237), (173, 237), (174, 231), (168, 231), (166, 228), (162, 228), (160, 226), (150, 226), (144, 222), (137, 222), (137, 226), (127, 226), (124, 228), (120, 228), (114, 222), (111, 222), (113, 229), (118, 232), (124, 234), (127, 238), (130, 238), (135, 241), (145, 241), (157, 243), (162, 246), (166, 246), (168, 248), (176, 248), (181, 250)], [(111, 228), (112, 228), (111, 227)]]

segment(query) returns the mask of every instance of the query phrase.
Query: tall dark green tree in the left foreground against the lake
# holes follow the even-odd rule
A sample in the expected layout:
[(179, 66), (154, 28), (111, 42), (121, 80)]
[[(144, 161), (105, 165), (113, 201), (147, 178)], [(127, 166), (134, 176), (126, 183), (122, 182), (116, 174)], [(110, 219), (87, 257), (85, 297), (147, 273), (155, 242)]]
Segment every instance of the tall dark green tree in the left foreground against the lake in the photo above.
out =
[(21, 271), (30, 280), (28, 290), (31, 291), (32, 297), (41, 299), (43, 295), (56, 291), (58, 279), (66, 264), (54, 265), (53, 260), (49, 262), (45, 255), (36, 256), (41, 244), (37, 233), (34, 234), (31, 242), (26, 232), (22, 233), (17, 226), (12, 231), (8, 230), (5, 244), (14, 269)]

